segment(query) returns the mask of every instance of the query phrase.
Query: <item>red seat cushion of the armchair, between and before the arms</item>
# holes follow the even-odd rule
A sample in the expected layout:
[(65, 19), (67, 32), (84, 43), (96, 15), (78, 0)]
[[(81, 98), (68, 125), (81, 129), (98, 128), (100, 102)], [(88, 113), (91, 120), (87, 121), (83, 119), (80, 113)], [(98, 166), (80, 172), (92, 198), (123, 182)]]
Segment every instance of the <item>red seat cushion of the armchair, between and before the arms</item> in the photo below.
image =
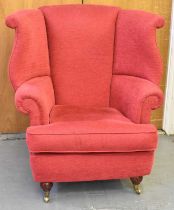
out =
[(157, 130), (135, 124), (113, 108), (57, 105), (50, 124), (27, 129), (27, 144), (33, 153), (153, 151)]

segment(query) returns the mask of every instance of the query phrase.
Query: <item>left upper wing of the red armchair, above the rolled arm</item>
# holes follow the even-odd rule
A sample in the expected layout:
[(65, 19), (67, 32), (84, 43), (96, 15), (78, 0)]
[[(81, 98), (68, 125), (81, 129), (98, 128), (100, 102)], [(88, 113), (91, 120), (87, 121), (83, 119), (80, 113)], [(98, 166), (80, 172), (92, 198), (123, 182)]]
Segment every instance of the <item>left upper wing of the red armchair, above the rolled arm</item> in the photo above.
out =
[(40, 10), (23, 10), (6, 18), (16, 29), (15, 43), (9, 63), (9, 76), (17, 89), (34, 77), (50, 75), (45, 21)]

